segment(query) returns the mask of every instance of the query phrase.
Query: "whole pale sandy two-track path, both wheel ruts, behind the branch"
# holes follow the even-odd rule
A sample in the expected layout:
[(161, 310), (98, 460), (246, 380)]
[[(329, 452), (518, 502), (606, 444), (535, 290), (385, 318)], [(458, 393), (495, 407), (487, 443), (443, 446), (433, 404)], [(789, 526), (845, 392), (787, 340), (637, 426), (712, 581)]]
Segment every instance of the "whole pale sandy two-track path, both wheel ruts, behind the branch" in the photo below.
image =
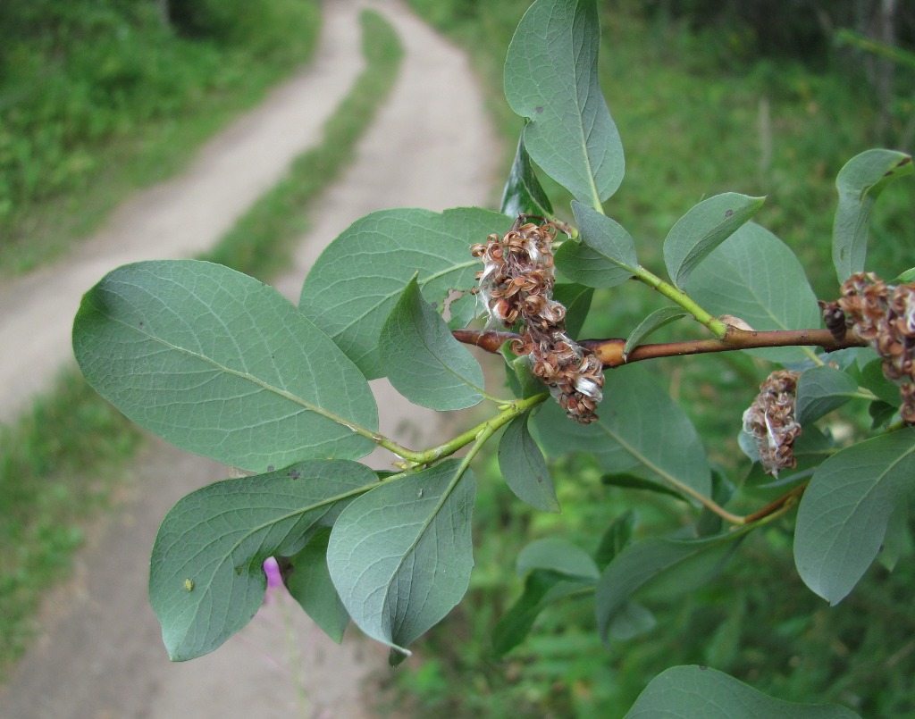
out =
[[(499, 153), (463, 55), (396, 0), (329, 0), (326, 5), (324, 42), (311, 70), (208, 145), (185, 177), (143, 193), (119, 211), (66, 270), (48, 270), (0, 289), (0, 342), (7, 347), (14, 342), (22, 347), (16, 354), (32, 358), (0, 365), (0, 386), (19, 390), (3, 398), (0, 417), (45, 386), (69, 357), (70, 321), (79, 296), (104, 272), (140, 257), (188, 256), (204, 249), (311, 142), (301, 125), (311, 123), (317, 132), (315, 115), (326, 116), (321, 111), (329, 111), (359, 70), (360, 6), (381, 10), (400, 33), (407, 50), (402, 77), (363, 139), (356, 164), (321, 202), (295, 268), (277, 286), (295, 298), (320, 249), (373, 209), (444, 209), (490, 201)], [(301, 139), (292, 142), (285, 134)], [(247, 160), (242, 147), (253, 152)], [(274, 169), (260, 166), (265, 155)], [(236, 157), (234, 169), (226, 165), (230, 157)], [(257, 183), (238, 181), (239, 175), (255, 172)], [(187, 197), (190, 188), (199, 193), (193, 201)], [(183, 231), (191, 226), (193, 231)], [(176, 234), (187, 244), (163, 247), (162, 238)], [(48, 293), (50, 286), (59, 292)], [(59, 296), (59, 302), (48, 304), (46, 295)], [(40, 337), (36, 327), (42, 327)], [(52, 353), (57, 361), (48, 362), (46, 371), (38, 360)], [(383, 382), (374, 384), (382, 432), (421, 445), (435, 423), (428, 415), (417, 419), (416, 408), (397, 402)], [(76, 579), (48, 597), (46, 631), (0, 692), (0, 716), (289, 717), (300, 714), (296, 686), (307, 693), (312, 717), (371, 715), (361, 701), (360, 683), (371, 671), (384, 671), (386, 652), (359, 640), (354, 629), (337, 647), (288, 596), (274, 596), (248, 628), (207, 657), (181, 664), (167, 660), (145, 593), (153, 538), (180, 496), (226, 477), (227, 470), (154, 442), (131, 474), (135, 482), (124, 510), (81, 553)]]

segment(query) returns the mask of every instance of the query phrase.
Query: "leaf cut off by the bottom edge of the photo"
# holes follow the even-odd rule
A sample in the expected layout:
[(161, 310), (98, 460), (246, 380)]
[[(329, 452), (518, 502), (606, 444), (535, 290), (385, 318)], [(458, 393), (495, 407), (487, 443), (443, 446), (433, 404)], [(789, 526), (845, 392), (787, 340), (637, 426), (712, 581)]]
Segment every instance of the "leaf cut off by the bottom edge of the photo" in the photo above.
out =
[(672, 667), (651, 680), (625, 719), (860, 719), (836, 704), (774, 699), (707, 667)]

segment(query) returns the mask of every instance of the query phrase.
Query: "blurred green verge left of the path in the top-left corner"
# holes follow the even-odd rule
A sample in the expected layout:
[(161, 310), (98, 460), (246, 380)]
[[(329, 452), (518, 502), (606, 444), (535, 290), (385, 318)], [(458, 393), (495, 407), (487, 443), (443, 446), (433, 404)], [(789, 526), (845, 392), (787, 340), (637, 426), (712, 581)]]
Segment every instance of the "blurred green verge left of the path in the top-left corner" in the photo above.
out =
[(0, 275), (64, 252), (310, 57), (317, 0), (0, 3)]

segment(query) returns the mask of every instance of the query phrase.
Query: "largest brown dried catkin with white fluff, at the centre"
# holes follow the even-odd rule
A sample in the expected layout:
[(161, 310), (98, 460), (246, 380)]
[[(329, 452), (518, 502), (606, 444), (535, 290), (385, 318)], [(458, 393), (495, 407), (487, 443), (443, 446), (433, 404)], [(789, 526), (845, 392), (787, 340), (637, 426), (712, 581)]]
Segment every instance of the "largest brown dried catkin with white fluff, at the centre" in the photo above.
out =
[(533, 374), (570, 418), (589, 424), (597, 419), (603, 397), (603, 364), (565, 333), (565, 306), (553, 299), (556, 225), (521, 221), (501, 237), (491, 234), (470, 248), (484, 265), (477, 273), (477, 292), (490, 317), (504, 327), (521, 321), (522, 337), (511, 350), (531, 358)]

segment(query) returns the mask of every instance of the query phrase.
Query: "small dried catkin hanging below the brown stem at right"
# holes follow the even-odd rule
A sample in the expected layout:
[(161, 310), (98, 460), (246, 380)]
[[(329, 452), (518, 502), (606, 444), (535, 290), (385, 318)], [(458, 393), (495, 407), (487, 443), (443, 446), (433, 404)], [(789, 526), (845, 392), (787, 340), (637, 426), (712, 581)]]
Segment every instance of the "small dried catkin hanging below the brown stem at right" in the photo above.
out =
[(794, 419), (794, 398), (799, 372), (778, 370), (759, 385), (759, 394), (743, 416), (743, 430), (759, 449), (759, 462), (772, 477), (781, 469), (797, 466), (794, 440), (801, 425)]

